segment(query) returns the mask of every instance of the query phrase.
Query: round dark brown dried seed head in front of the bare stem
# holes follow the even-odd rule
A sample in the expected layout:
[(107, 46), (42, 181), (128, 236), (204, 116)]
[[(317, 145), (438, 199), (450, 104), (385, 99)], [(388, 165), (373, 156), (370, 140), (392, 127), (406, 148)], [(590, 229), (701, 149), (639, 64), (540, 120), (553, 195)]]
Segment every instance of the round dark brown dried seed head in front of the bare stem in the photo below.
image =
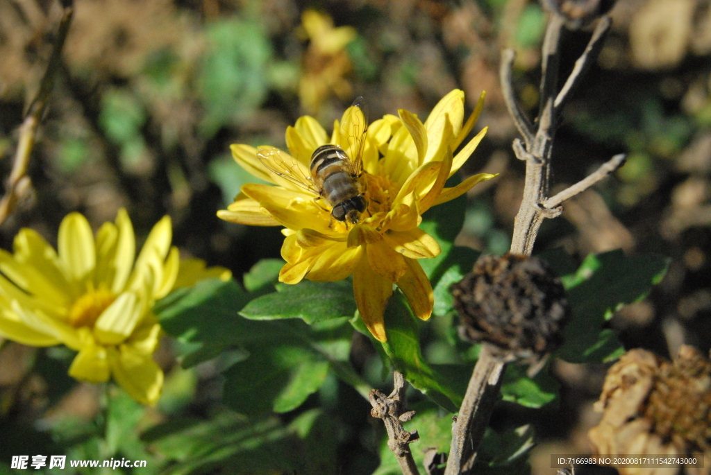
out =
[(461, 336), (492, 344), (505, 361), (540, 361), (562, 344), (570, 307), (560, 280), (539, 258), (481, 256), (450, 291)]

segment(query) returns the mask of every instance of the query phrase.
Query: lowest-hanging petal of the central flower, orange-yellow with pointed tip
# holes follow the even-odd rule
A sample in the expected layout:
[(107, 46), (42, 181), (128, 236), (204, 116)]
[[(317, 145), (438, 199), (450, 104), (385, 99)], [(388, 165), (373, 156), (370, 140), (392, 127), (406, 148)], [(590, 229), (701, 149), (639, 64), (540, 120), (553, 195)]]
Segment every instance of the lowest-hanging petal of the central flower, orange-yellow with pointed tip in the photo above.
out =
[(353, 272), (353, 295), (365, 326), (375, 339), (386, 342), (383, 312), (387, 299), (392, 295), (392, 282), (373, 271), (365, 256), (360, 258)]

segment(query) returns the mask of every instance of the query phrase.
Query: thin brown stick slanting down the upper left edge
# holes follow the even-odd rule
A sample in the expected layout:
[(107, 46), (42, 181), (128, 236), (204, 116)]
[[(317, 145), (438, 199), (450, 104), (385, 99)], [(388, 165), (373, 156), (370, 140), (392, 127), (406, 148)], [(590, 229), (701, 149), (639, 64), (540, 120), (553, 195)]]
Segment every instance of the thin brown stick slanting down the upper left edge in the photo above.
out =
[(37, 97), (35, 97), (27, 108), (25, 119), (20, 126), (20, 139), (17, 144), (12, 171), (7, 180), (5, 195), (2, 200), (0, 200), (0, 224), (3, 224), (10, 216), (20, 197), (25, 194), (31, 185), (30, 178), (27, 176), (27, 167), (30, 163), (30, 155), (32, 154), (32, 148), (35, 144), (37, 128), (42, 121), (42, 116), (49, 102), (54, 85), (55, 73), (60, 62), (62, 47), (64, 40), (67, 38), (73, 14), (74, 8), (72, 2), (65, 2), (63, 4), (62, 19), (59, 23), (57, 42), (52, 48), (47, 70), (42, 77)]

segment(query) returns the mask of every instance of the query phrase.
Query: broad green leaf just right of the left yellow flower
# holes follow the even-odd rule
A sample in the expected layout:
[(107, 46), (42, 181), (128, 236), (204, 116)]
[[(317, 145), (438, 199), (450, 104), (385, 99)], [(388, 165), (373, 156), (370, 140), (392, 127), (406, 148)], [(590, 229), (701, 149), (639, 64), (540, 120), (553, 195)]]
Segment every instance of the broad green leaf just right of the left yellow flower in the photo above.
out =
[(154, 312), (167, 334), (183, 346), (183, 367), (217, 356), (228, 346), (254, 334), (251, 322), (237, 312), (247, 302), (235, 280), (201, 280), (156, 302)]

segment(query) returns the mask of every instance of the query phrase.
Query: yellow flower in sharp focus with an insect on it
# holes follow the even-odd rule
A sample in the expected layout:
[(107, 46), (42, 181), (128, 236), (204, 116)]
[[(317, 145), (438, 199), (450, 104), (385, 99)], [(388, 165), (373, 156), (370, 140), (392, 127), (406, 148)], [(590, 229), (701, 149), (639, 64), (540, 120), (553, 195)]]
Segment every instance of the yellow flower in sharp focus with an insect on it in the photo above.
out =
[[(232, 155), (242, 168), (277, 186), (248, 184), (218, 212), (226, 221), (255, 226), (285, 226), (282, 257), (287, 261), (279, 280), (295, 284), (302, 278), (342, 280), (353, 275), (355, 302), (363, 322), (380, 342), (385, 342), (383, 312), (395, 284), (405, 294), (417, 317), (432, 314), (432, 285), (417, 259), (437, 256), (439, 244), (419, 229), (422, 214), (430, 207), (453, 200), (495, 175), (474, 175), (456, 187), (444, 183), (464, 164), (486, 129), (453, 156), (469, 134), (483, 107), (483, 94), (474, 113), (464, 121), (464, 92), (445, 96), (422, 124), (415, 114), (400, 110), (368, 128), (360, 178), (368, 210), (355, 226), (338, 222), (324, 209), (323, 200), (265, 168), (257, 149), (233, 145)], [(352, 121), (343, 116), (346, 128)], [(315, 119), (304, 116), (287, 129), (292, 157), (308, 170), (311, 154), (326, 143), (348, 150), (338, 121), (329, 138)], [(352, 135), (347, 131), (346, 136)], [(380, 155), (383, 155), (381, 158)], [(299, 166), (301, 166), (299, 165)]]

